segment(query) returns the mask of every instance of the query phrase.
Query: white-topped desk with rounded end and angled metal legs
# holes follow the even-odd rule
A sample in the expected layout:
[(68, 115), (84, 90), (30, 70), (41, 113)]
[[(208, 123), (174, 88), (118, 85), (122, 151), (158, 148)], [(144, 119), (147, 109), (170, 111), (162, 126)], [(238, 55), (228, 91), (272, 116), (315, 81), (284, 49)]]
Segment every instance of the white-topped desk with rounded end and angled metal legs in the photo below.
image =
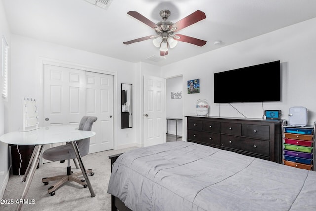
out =
[[(23, 177), (23, 181), (26, 181), (26, 184), (21, 196), (22, 201), (26, 197), (26, 194), (32, 182), (32, 178), (34, 176), (37, 164), (40, 161), (40, 155), (43, 149), (43, 145), (62, 143), (62, 142), (71, 142), (74, 148), (76, 157), (78, 159), (78, 163), (82, 171), (83, 177), (85, 178), (87, 185), (89, 187), (91, 197), (95, 196), (90, 180), (83, 166), (79, 149), (76, 143), (76, 140), (81, 140), (81, 139), (94, 136), (95, 132), (77, 130), (76, 128), (78, 128), (78, 126), (74, 126), (74, 125), (39, 127), (38, 129), (34, 129), (27, 132), (20, 132), (20, 131), (9, 132), (0, 137), (0, 141), (10, 144), (10, 145), (35, 145), (29, 165)], [(28, 174), (29, 174), (29, 177), (26, 180)], [(18, 203), (18, 206), (16, 209), (17, 211), (21, 210), (22, 204), (23, 203)]]

